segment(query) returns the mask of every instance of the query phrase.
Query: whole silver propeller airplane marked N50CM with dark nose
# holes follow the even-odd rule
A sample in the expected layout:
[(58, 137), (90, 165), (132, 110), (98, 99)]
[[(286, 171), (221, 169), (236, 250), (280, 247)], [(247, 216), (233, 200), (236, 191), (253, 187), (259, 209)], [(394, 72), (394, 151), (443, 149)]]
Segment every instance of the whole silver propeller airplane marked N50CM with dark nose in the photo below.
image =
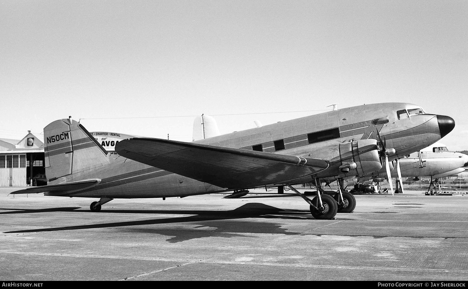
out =
[(415, 104), (365, 104), (193, 142), (130, 138), (115, 146), (116, 156), (70, 117), (44, 127), (48, 185), (13, 193), (100, 198), (90, 205), (96, 212), (114, 198), (165, 200), (276, 184), (303, 198), (314, 218), (334, 219), (354, 209), (352, 194), (332, 197), (317, 185), (310, 200), (292, 185), (380, 170), (383, 159), (425, 148), (454, 126)]

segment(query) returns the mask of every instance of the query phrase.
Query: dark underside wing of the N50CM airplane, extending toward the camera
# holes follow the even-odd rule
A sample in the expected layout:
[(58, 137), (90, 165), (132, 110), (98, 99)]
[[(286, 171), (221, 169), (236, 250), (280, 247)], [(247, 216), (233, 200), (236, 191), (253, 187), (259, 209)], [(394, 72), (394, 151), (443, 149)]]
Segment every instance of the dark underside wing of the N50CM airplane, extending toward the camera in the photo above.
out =
[(225, 189), (281, 184), (325, 170), (322, 159), (287, 156), (183, 141), (132, 138), (120, 156)]

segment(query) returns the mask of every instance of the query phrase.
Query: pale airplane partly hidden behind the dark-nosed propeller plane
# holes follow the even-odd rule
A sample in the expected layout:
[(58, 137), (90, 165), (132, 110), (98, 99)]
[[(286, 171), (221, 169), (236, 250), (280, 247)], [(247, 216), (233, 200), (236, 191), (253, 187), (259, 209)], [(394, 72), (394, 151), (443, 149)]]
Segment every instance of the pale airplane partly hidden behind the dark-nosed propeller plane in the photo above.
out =
[[(396, 163), (398, 161), (398, 164)], [(400, 173), (394, 170), (400, 166)], [(449, 151), (444, 144), (436, 142), (427, 148), (423, 148), (415, 153), (404, 156), (401, 159), (390, 162), (391, 177), (397, 178), (397, 192), (403, 193), (402, 178), (412, 177), (419, 180), (419, 177), (431, 177), (431, 182), (426, 194), (433, 194), (433, 190), (439, 191), (439, 178), (449, 177), (465, 171), (468, 166), (468, 156), (462, 153)], [(387, 178), (385, 171), (379, 170), (372, 176), (360, 178), (360, 182), (367, 184), (380, 183)], [(400, 189), (398, 189), (400, 184)], [(374, 185), (374, 187), (380, 187)], [(379, 193), (374, 190), (373, 193)]]

